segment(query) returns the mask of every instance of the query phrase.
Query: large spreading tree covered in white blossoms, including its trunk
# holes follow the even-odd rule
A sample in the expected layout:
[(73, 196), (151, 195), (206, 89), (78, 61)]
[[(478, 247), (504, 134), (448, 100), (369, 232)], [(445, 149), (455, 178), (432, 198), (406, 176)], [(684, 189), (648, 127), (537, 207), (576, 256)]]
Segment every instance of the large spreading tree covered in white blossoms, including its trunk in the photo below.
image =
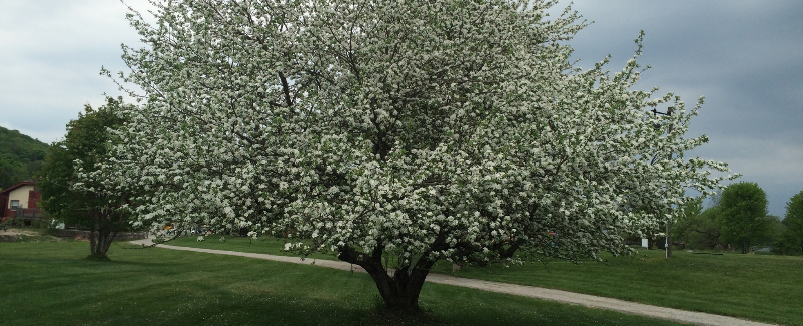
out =
[(144, 102), (94, 177), (148, 189), (137, 225), (287, 236), (363, 267), (391, 308), (417, 309), (438, 261), (628, 255), (684, 188), (719, 186), (701, 169), (727, 170), (671, 156), (707, 141), (683, 137), (699, 104), (631, 90), (635, 58), (574, 67), (585, 23), (552, 2), (155, 5), (129, 16), (148, 47), (120, 75)]

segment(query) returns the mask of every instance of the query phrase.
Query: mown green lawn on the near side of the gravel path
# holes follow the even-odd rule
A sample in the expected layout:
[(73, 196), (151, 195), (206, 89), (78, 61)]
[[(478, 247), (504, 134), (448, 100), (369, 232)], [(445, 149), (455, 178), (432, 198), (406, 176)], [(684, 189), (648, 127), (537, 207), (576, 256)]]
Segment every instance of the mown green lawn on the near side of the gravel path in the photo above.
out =
[[(88, 252), (87, 242), (0, 243), (0, 324), (416, 324), (389, 322), (365, 274), (161, 248), (113, 246), (109, 262)], [(421, 306), (437, 321), (418, 324), (679, 325), (439, 284), (424, 287)]]

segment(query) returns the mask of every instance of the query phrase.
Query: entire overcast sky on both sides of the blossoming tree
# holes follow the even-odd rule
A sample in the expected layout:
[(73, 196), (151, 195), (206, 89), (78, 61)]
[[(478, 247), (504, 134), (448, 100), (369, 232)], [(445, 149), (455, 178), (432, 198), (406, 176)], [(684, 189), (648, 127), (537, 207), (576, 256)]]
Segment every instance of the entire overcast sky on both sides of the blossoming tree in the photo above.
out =
[[(129, 4), (144, 8), (143, 0)], [(565, 6), (561, 3), (558, 6)], [(725, 161), (766, 190), (771, 214), (803, 189), (803, 1), (576, 1), (594, 23), (571, 42), (581, 67), (619, 70), (646, 31), (640, 89), (706, 102), (688, 156)], [(137, 45), (117, 0), (0, 0), (0, 126), (57, 141), (84, 104), (119, 96), (100, 67), (124, 70)]]

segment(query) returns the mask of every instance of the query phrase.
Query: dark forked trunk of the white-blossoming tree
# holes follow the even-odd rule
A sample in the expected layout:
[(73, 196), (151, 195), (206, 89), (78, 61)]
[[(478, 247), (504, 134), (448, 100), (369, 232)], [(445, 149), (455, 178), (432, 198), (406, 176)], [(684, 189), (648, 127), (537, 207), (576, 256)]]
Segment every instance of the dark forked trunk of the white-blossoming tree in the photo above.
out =
[(377, 248), (372, 255), (341, 248), (338, 258), (362, 267), (371, 275), (387, 308), (409, 313), (418, 311), (418, 295), (421, 294), (426, 275), (434, 265), (434, 262), (427, 259), (418, 259), (414, 266), (399, 268), (391, 276), (382, 266), (381, 248)]

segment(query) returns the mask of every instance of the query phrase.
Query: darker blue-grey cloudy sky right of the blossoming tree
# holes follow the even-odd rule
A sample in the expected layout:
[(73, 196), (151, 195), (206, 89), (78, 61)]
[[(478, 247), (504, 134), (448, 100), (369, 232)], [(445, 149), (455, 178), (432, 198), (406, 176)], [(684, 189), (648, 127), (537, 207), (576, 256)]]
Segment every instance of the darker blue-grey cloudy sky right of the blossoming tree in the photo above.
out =
[[(559, 5), (560, 6), (560, 5)], [(581, 67), (611, 54), (618, 70), (646, 31), (638, 88), (660, 86), (687, 105), (705, 96), (688, 156), (728, 162), (767, 191), (770, 213), (803, 189), (803, 2), (576, 1), (589, 21), (570, 44)]]

